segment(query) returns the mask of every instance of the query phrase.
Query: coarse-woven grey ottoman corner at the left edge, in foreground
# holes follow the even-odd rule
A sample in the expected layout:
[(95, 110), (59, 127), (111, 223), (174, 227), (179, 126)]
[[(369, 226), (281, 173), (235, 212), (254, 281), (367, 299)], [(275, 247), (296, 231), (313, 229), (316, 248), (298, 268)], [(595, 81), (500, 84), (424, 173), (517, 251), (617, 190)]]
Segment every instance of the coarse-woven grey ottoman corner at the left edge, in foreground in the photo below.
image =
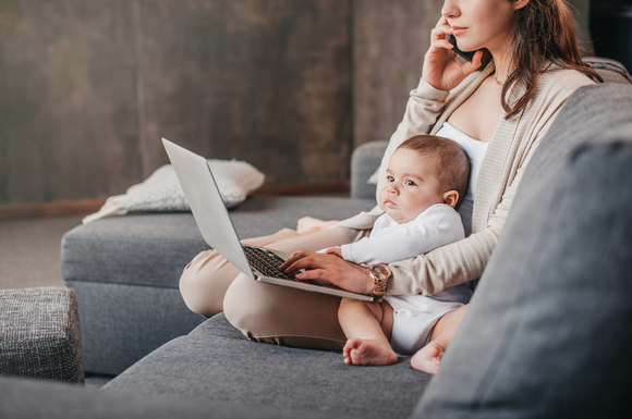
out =
[(0, 374), (84, 382), (77, 304), (72, 289), (0, 291)]

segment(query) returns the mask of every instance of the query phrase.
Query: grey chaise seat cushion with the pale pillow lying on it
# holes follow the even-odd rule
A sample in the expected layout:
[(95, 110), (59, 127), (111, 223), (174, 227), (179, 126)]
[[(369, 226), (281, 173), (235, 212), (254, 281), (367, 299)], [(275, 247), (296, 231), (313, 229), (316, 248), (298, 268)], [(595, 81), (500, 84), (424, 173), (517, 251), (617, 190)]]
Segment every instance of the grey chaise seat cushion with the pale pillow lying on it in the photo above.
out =
[[(303, 215), (343, 219), (374, 206), (375, 199), (256, 196), (230, 214), (240, 237), (250, 238), (295, 227)], [(62, 276), (66, 282), (178, 287), (182, 269), (208, 248), (191, 213), (108, 218), (63, 236)]]

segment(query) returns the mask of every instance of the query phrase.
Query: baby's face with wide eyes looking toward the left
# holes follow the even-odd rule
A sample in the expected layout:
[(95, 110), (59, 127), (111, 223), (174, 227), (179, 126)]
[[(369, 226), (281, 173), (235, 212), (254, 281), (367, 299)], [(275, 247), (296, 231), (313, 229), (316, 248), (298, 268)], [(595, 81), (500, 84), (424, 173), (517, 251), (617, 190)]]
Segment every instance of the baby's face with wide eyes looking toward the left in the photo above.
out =
[(398, 149), (386, 172), (381, 208), (399, 224), (414, 220), (435, 204), (443, 202), (443, 190), (435, 177), (436, 162), (416, 151)]

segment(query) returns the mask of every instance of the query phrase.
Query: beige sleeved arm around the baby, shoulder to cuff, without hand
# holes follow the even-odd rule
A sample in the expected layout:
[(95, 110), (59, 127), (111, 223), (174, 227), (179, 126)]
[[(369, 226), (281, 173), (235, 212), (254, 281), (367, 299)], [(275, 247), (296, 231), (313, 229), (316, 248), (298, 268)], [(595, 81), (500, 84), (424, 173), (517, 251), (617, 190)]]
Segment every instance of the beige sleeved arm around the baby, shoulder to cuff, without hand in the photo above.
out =
[[(495, 183), (489, 182), (489, 189), (497, 190), (499, 198), (497, 199), (494, 193), (475, 197), (473, 221), (481, 220), (484, 224), (478, 227), (474, 225), (475, 233), (463, 241), (414, 259), (390, 263), (393, 279), (389, 283), (387, 291), (389, 294), (434, 295), (447, 287), (481, 278), (537, 146), (546, 136), (568, 97), (586, 84), (592, 82), (574, 71), (551, 71), (542, 76), (539, 98), (532, 103), (531, 110), (515, 127), (514, 135), (521, 138), (515, 144), (516, 151), (513, 156), (506, 156), (502, 161), (508, 168), (505, 177), (507, 181), (498, 178), (494, 181)], [(481, 177), (479, 175), (479, 186)], [(477, 193), (479, 190), (481, 188)], [(487, 204), (481, 205), (482, 201)], [(491, 214), (488, 215), (487, 211), (491, 211)], [(474, 224), (476, 223), (481, 224), (481, 222)]]

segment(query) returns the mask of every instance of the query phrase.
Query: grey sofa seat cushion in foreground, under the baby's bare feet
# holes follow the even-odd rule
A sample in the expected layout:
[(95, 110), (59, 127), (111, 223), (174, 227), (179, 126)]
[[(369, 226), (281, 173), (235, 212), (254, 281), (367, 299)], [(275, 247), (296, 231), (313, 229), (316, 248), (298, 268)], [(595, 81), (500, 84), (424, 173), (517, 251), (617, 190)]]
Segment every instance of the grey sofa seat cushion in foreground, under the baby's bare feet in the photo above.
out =
[(247, 341), (222, 313), (149, 354), (102, 391), (228, 402), (358, 418), (405, 418), (429, 375), (408, 358), (389, 367), (347, 366), (337, 352)]

